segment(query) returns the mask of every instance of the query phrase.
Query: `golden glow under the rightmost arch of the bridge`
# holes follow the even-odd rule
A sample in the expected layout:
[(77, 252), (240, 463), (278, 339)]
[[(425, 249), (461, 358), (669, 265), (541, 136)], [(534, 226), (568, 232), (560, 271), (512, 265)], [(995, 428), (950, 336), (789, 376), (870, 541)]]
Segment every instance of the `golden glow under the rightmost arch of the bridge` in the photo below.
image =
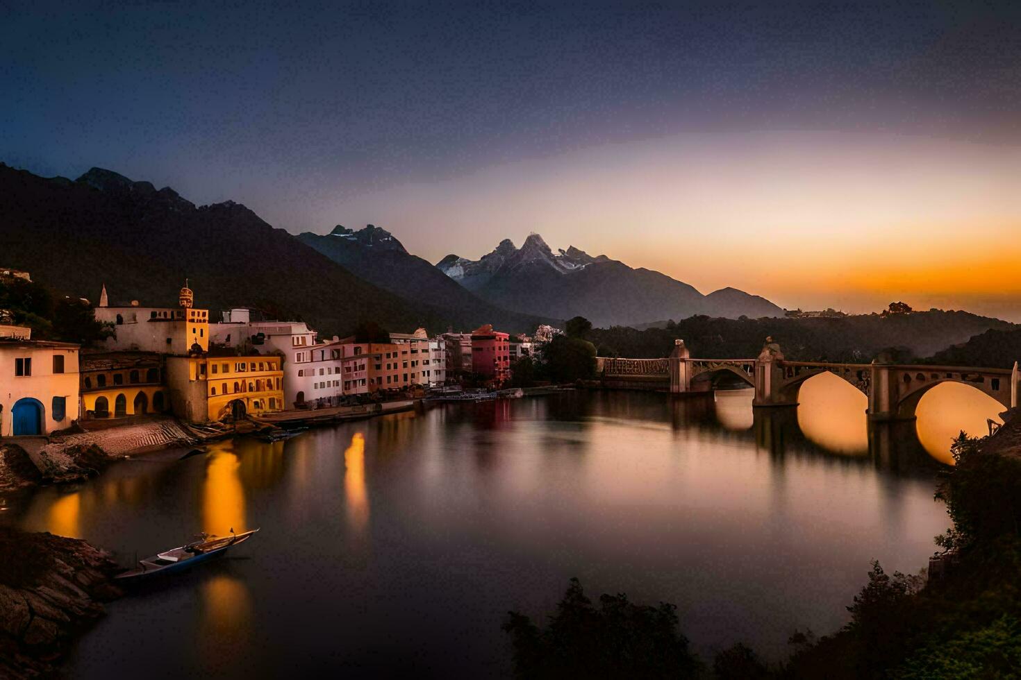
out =
[(925, 393), (915, 409), (918, 439), (930, 456), (953, 465), (951, 443), (961, 430), (971, 436), (988, 434), (986, 419), (1002, 423), (1004, 411), (1000, 402), (971, 385), (942, 382)]

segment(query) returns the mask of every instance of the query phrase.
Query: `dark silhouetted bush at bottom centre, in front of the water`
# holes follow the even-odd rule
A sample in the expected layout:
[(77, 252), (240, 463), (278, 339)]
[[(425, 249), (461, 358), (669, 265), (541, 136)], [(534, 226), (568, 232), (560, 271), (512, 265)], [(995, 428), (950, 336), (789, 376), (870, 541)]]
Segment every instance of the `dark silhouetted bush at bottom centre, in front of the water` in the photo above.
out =
[(573, 578), (547, 626), (508, 612), (503, 630), (520, 678), (695, 677), (701, 665), (678, 631), (675, 610), (635, 605), (623, 593), (603, 594), (596, 606)]

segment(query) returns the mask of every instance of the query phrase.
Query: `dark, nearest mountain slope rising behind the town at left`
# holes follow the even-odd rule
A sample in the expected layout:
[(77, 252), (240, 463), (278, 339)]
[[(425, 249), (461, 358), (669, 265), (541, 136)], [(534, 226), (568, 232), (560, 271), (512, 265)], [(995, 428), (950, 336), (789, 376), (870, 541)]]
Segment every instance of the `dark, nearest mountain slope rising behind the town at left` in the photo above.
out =
[[(386, 247), (381, 234), (367, 236)], [(93, 301), (105, 283), (115, 299), (174, 306), (188, 277), (213, 317), (248, 306), (326, 336), (363, 321), (432, 332), (489, 321), (374, 285), (241, 204), (196, 207), (173, 189), (102, 168), (71, 181), (0, 163), (0, 260)]]

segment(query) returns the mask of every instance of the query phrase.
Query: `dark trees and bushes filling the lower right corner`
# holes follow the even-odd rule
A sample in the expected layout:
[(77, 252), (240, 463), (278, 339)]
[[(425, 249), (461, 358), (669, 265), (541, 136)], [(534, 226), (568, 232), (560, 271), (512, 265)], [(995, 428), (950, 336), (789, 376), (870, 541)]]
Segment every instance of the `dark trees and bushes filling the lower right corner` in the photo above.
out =
[(1021, 459), (955, 441), (940, 481), (953, 528), (936, 542), (944, 578), (886, 575), (873, 563), (852, 622), (795, 653), (792, 678), (1015, 678), (1021, 668)]

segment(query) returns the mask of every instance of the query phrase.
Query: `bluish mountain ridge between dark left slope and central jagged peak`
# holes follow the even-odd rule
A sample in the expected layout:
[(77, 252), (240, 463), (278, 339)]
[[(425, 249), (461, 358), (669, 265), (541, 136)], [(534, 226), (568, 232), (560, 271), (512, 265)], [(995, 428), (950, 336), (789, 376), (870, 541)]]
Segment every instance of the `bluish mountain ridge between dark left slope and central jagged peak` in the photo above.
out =
[(531, 331), (549, 319), (501, 309), (411, 255), (392, 233), (374, 224), (353, 230), (338, 224), (328, 234), (305, 231), (297, 239), (385, 291), (426, 305), (441, 304), (455, 315), (499, 328)]

